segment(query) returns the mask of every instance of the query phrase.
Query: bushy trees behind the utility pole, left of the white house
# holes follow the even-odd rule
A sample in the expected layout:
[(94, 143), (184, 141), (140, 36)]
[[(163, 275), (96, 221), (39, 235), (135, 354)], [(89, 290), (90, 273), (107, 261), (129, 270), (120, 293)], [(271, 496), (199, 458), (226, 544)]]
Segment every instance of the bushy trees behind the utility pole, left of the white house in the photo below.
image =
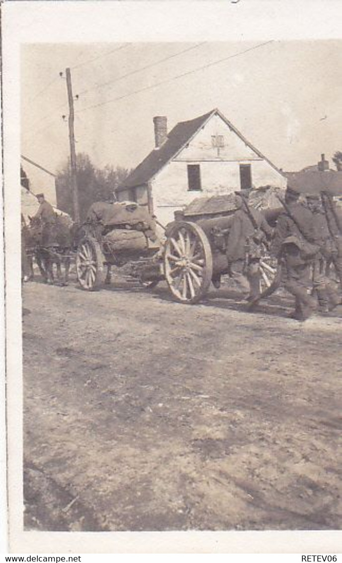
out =
[[(86, 153), (77, 155), (76, 166), (80, 217), (84, 220), (92, 203), (113, 198), (114, 190), (128, 176), (129, 171), (109, 165), (96, 168)], [(70, 159), (57, 172), (56, 195), (57, 207), (73, 216)]]

